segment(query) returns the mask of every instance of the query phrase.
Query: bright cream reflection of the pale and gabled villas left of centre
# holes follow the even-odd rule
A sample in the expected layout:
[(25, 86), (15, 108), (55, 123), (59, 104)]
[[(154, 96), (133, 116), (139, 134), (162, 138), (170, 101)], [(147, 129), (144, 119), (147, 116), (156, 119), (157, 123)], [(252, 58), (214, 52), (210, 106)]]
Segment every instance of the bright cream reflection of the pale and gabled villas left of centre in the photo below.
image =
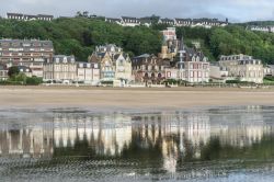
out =
[(132, 140), (130, 116), (56, 115), (54, 117), (55, 147), (73, 147), (77, 140), (87, 140), (98, 155), (119, 155)]

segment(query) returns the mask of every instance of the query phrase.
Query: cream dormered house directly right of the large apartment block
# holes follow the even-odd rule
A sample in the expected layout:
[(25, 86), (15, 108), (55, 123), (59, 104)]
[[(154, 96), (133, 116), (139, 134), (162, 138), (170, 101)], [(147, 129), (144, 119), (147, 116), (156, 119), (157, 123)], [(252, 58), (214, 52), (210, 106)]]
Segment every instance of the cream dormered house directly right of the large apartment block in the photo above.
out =
[(56, 55), (44, 65), (44, 80), (70, 83), (77, 81), (77, 64), (73, 56)]

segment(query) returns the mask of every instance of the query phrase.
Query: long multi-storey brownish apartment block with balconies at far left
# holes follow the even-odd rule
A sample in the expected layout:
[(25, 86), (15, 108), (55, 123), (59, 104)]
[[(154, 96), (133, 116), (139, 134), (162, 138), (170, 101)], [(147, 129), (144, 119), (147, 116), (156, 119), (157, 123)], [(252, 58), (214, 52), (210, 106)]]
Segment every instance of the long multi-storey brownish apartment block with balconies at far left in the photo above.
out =
[(43, 64), (54, 55), (52, 41), (39, 39), (0, 39), (0, 64), (25, 66), (34, 76), (43, 77)]

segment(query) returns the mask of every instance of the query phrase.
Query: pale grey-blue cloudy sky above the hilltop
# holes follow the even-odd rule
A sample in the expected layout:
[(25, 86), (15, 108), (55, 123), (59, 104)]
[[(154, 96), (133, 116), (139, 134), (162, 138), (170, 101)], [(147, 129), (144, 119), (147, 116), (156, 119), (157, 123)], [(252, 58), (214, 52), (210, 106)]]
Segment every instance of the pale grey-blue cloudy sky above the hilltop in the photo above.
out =
[(77, 11), (119, 18), (157, 14), (162, 18), (219, 18), (243, 22), (274, 20), (273, 0), (0, 0), (0, 14), (75, 15)]

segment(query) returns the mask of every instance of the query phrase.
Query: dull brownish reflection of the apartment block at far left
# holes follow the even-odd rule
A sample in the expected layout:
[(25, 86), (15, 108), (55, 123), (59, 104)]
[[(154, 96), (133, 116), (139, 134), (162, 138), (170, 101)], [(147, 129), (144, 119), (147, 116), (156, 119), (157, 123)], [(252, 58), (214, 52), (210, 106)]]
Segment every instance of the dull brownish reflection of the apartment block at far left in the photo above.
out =
[(52, 157), (53, 129), (22, 128), (0, 130), (2, 157), (44, 158)]

